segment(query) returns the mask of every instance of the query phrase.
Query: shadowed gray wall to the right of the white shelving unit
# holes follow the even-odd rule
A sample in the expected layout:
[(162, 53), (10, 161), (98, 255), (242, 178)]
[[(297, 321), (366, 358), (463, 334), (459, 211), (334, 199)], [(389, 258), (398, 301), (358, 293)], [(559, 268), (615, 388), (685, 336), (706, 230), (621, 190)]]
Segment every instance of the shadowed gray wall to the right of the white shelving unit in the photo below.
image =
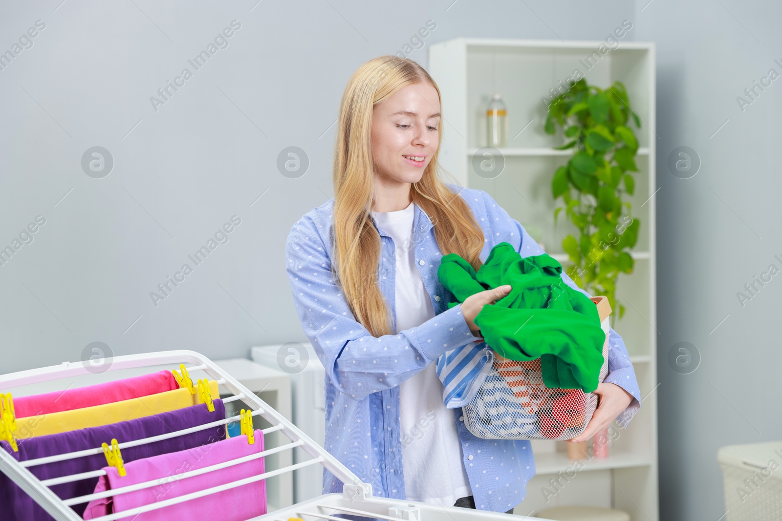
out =
[[(770, 264), (782, 269), (782, 77), (743, 112), (736, 100), (769, 69), (782, 73), (782, 5), (647, 2), (636, 2), (634, 36), (658, 50), (660, 517), (716, 521), (725, 512), (717, 448), (782, 439), (782, 277), (743, 307), (737, 298)], [(701, 159), (689, 179), (666, 166), (681, 146)], [(669, 366), (682, 341), (700, 353), (691, 374)]]

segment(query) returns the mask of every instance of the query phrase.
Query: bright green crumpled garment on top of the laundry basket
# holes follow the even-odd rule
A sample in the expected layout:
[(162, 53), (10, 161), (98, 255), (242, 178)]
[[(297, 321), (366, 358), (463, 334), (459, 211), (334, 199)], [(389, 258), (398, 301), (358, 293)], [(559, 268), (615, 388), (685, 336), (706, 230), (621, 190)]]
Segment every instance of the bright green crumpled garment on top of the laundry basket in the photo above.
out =
[(561, 277), (562, 266), (550, 255), (525, 257), (508, 242), (492, 248), (475, 272), (456, 253), (444, 255), (437, 269), (443, 286), (457, 299), (511, 285), (511, 292), (475, 316), (486, 344), (506, 359), (540, 358), (546, 387), (597, 389), (603, 366), (605, 333), (597, 305)]

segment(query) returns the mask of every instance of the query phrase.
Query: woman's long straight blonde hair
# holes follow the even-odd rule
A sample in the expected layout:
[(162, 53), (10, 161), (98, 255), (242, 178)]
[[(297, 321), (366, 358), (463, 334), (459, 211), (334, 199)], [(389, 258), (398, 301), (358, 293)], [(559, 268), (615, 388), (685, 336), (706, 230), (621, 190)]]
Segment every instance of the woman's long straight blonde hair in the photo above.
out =
[[(334, 153), (332, 273), (339, 280), (353, 316), (374, 337), (396, 334), (396, 331), (378, 284), (382, 248), (370, 214), (375, 195), (372, 109), (400, 88), (422, 83), (435, 87), (440, 98), (437, 84), (418, 63), (393, 55), (378, 56), (353, 73), (339, 105)], [(440, 142), (442, 122), (440, 118)], [(411, 184), (411, 198), (432, 220), (440, 252), (457, 253), (477, 270), (482, 264), (479, 255), (484, 245), (483, 232), (464, 199), (438, 179), (438, 152), (439, 148), (421, 180)], [(420, 239), (414, 241), (418, 242)], [(400, 244), (396, 247), (400, 248)]]

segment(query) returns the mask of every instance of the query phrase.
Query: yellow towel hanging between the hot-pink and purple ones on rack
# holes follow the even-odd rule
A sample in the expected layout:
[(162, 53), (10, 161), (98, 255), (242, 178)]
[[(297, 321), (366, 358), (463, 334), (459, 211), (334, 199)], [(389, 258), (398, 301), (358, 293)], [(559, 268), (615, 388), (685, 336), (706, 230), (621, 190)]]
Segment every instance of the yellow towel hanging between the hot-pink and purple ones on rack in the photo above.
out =
[[(209, 392), (213, 399), (220, 398), (217, 381), (209, 380)], [(17, 418), (14, 435), (16, 439), (24, 440), (34, 436), (59, 434), (69, 430), (86, 429), (87, 427), (152, 416), (160, 414), (160, 412), (175, 411), (199, 403), (198, 393), (190, 394), (187, 389), (176, 389), (164, 393), (149, 394), (149, 396), (141, 398), (115, 401), (106, 405)]]

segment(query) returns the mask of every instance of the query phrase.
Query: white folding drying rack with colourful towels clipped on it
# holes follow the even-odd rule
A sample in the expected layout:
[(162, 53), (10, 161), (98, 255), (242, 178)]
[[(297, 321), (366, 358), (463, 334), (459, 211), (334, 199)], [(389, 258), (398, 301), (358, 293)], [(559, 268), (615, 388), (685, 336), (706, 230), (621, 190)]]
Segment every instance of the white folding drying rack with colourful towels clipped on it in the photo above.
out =
[[(249, 409), (252, 410), (252, 416), (262, 416), (269, 423), (271, 427), (262, 430), (264, 436), (274, 431), (281, 431), (285, 436), (290, 439), (289, 444), (283, 444), (279, 447), (270, 448), (259, 452), (256, 455), (245, 456), (244, 458), (235, 459), (231, 462), (221, 463), (219, 466), (206, 467), (206, 469), (196, 469), (188, 473), (183, 473), (177, 477), (177, 479), (186, 479), (190, 476), (199, 475), (201, 473), (210, 472), (226, 466), (237, 465), (245, 462), (249, 458), (257, 458), (264, 455), (271, 455), (276, 452), (284, 450), (292, 450), (295, 447), (301, 447), (308, 455), (312, 457), (304, 462), (299, 462), (290, 466), (282, 467), (281, 469), (274, 469), (258, 474), (257, 476), (251, 476), (243, 480), (237, 480), (228, 484), (221, 485), (219, 487), (213, 487), (203, 491), (197, 491), (192, 494), (182, 495), (178, 498), (170, 498), (165, 501), (159, 501), (151, 505), (145, 505), (137, 509), (127, 510), (124, 512), (117, 512), (108, 516), (101, 516), (95, 518), (94, 521), (113, 521), (114, 519), (122, 519), (131, 516), (135, 516), (138, 513), (149, 512), (155, 509), (178, 505), (182, 502), (189, 501), (194, 498), (203, 497), (208, 494), (216, 494), (217, 492), (225, 491), (235, 487), (241, 487), (246, 484), (255, 483), (260, 480), (265, 480), (271, 476), (277, 476), (282, 473), (292, 472), (293, 470), (300, 469), (310, 465), (322, 465), (333, 473), (344, 484), (342, 494), (323, 494), (317, 498), (310, 499), (308, 501), (302, 501), (296, 505), (289, 507), (283, 507), (282, 509), (275, 510), (274, 512), (268, 512), (262, 516), (255, 518), (258, 521), (288, 521), (289, 518), (300, 518), (303, 521), (322, 521), (332, 519), (344, 521), (344, 518), (335, 517), (335, 514), (343, 514), (346, 516), (357, 516), (359, 518), (371, 518), (371, 519), (383, 519), (386, 521), (396, 521), (398, 519), (405, 519), (407, 521), (476, 521), (478, 519), (486, 519), (486, 521), (511, 521), (518, 519), (512, 516), (512, 514), (505, 514), (499, 512), (487, 512), (473, 509), (461, 509), (453, 506), (440, 506), (430, 503), (423, 503), (419, 501), (404, 501), (400, 499), (389, 498), (377, 498), (372, 496), (371, 484), (364, 483), (350, 471), (342, 462), (339, 462), (333, 455), (331, 455), (325, 448), (315, 443), (312, 438), (304, 434), (298, 427), (291, 423), (285, 416), (282, 416), (279, 412), (272, 409), (266, 402), (261, 400), (256, 394), (249, 391), (239, 381), (235, 380), (231, 375), (226, 373), (219, 366), (215, 365), (206, 356), (201, 355), (195, 351), (178, 350), (178, 351), (159, 351), (154, 353), (145, 353), (140, 355), (125, 355), (113, 357), (113, 359), (103, 360), (109, 371), (117, 369), (134, 369), (147, 366), (164, 366), (185, 364), (185, 368), (190, 373), (197, 371), (203, 371), (207, 376), (213, 380), (217, 380), (217, 384), (220, 384), (228, 390), (226, 398), (222, 398), (224, 402), (242, 400)], [(190, 365), (188, 365), (190, 364)], [(20, 371), (18, 373), (9, 373), (0, 376), (0, 391), (9, 389), (10, 387), (19, 387), (29, 384), (39, 384), (48, 380), (58, 380), (60, 378), (75, 377), (75, 376), (88, 376), (91, 371), (82, 362), (63, 362), (59, 366), (41, 367), (38, 369), (29, 369), (26, 371)], [(160, 441), (169, 437), (182, 436), (190, 434), (197, 430), (203, 430), (213, 426), (221, 424), (228, 424), (240, 421), (240, 416), (233, 416), (224, 420), (218, 420), (217, 422), (208, 423), (202, 426), (190, 427), (188, 429), (178, 430), (169, 434), (162, 434), (156, 437), (149, 437), (142, 440), (127, 441), (119, 444), (120, 450), (124, 447), (132, 447), (138, 444), (151, 443), (153, 441)], [(16, 483), (23, 491), (30, 495), (43, 509), (46, 510), (52, 517), (58, 521), (81, 521), (81, 516), (77, 515), (69, 505), (75, 505), (84, 501), (74, 501), (73, 499), (60, 499), (54, 492), (49, 489), (49, 486), (64, 483), (66, 480), (74, 480), (78, 476), (91, 477), (99, 476), (103, 474), (103, 471), (96, 469), (95, 472), (86, 473), (76, 476), (63, 476), (61, 478), (55, 478), (52, 480), (41, 481), (38, 477), (28, 470), (28, 467), (34, 465), (40, 465), (52, 461), (63, 461), (65, 459), (72, 459), (77, 457), (84, 457), (88, 455), (102, 454), (103, 449), (97, 447), (95, 449), (89, 449), (86, 451), (72, 452), (70, 454), (49, 456), (47, 458), (41, 458), (36, 460), (28, 460), (23, 462), (17, 462), (16, 459), (10, 457), (5, 450), (0, 449), (0, 471), (9, 476), (14, 483)], [(152, 487), (156, 484), (146, 484), (148, 487)], [(145, 484), (138, 484), (131, 487), (127, 487), (132, 490), (138, 490)], [(120, 490), (113, 491), (113, 495), (117, 494)], [(129, 492), (131, 490), (128, 490)], [(95, 495), (95, 494), (91, 494)], [(84, 496), (81, 499), (88, 498)], [(170, 509), (172, 513), (175, 512), (175, 508)], [(543, 521), (540, 518), (525, 517), (528, 521)], [(246, 520), (246, 521), (249, 521)]]

